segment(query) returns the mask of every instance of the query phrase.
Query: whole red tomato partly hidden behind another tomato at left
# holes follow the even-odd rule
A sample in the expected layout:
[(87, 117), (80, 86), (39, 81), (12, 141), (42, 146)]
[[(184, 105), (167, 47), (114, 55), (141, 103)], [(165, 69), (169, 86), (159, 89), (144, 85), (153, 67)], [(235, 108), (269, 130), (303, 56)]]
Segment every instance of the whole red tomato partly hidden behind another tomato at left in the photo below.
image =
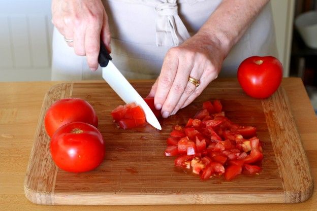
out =
[(53, 133), (70, 122), (86, 122), (98, 127), (98, 117), (92, 106), (80, 98), (65, 98), (55, 101), (47, 110), (44, 124), (47, 134)]

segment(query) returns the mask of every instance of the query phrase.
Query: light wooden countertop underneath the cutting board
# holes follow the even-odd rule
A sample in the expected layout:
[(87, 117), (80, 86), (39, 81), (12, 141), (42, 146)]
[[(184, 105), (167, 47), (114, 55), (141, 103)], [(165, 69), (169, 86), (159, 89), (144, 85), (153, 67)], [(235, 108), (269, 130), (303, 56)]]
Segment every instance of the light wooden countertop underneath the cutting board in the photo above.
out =
[[(217, 79), (236, 80), (236, 79)], [(90, 81), (91, 82), (91, 81)], [(60, 82), (0, 83), (0, 209), (1, 210), (316, 210), (317, 195), (297, 204), (224, 204), (160, 206), (37, 205), (23, 192), (25, 171), (45, 93)], [(85, 83), (85, 82), (83, 82)], [(299, 78), (284, 78), (292, 112), (317, 179), (317, 118)]]

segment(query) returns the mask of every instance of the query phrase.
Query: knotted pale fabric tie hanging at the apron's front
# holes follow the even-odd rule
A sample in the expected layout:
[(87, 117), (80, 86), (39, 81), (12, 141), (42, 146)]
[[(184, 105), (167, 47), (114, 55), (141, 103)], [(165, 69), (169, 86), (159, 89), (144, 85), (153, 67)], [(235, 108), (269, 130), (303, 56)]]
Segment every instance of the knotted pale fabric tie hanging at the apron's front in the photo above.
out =
[(191, 36), (178, 16), (176, 0), (164, 0), (155, 6), (156, 46), (178, 46)]

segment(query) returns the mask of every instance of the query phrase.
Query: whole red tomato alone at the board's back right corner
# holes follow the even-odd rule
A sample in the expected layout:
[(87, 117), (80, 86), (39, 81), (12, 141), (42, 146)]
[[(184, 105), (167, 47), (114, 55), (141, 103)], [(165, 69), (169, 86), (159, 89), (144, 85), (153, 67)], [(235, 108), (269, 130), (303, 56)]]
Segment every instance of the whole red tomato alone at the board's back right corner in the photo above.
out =
[(251, 56), (241, 62), (238, 81), (251, 97), (267, 98), (279, 87), (283, 76), (283, 66), (273, 56)]

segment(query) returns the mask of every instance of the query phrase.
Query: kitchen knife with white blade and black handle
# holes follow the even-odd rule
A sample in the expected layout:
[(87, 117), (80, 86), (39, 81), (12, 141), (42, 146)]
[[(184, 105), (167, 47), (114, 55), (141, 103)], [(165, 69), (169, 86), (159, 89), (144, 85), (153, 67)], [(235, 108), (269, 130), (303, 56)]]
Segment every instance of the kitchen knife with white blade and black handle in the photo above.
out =
[(154, 113), (140, 96), (140, 94), (133, 88), (133, 86), (124, 78), (117, 67), (112, 63), (112, 58), (109, 55), (103, 42), (100, 44), (100, 53), (98, 57), (98, 62), (102, 69), (102, 76), (109, 86), (121, 97), (125, 103), (135, 102), (140, 105), (145, 114), (146, 121), (153, 127), (161, 130), (162, 127), (160, 122), (158, 122)]

